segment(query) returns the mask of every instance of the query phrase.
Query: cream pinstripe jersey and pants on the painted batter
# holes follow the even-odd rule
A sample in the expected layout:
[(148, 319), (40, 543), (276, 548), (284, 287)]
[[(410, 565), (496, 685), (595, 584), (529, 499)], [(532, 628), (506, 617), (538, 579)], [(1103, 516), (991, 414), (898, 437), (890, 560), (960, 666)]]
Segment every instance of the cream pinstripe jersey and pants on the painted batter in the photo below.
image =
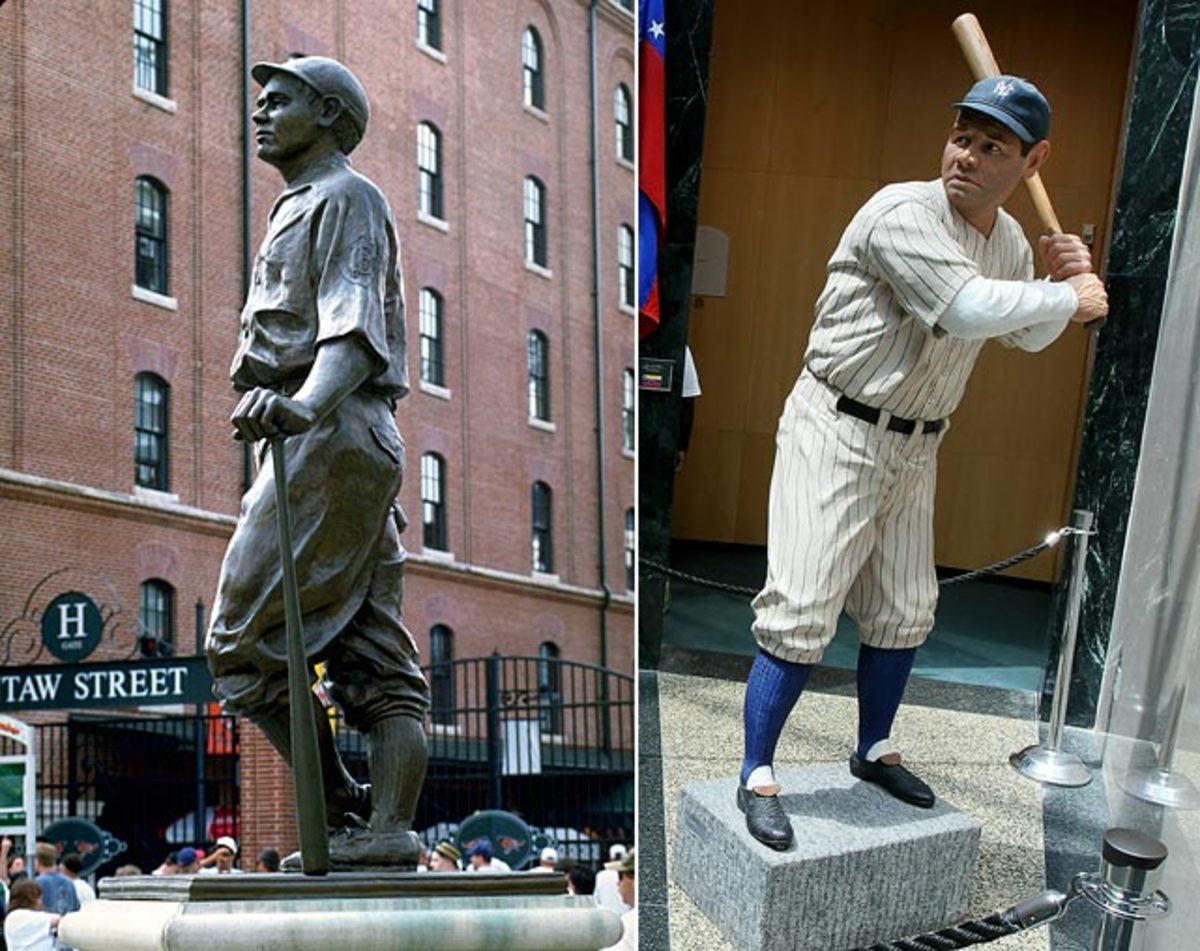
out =
[[(768, 653), (816, 663), (842, 608), (874, 647), (914, 647), (934, 626), (937, 431), (983, 340), (937, 319), (971, 277), (1031, 280), (1033, 257), (1002, 209), (984, 237), (941, 180), (889, 185), (854, 215), (828, 264), (805, 367), (784, 406), (768, 509), (767, 582), (752, 630)], [(1012, 346), (1020, 333), (1001, 339)], [(881, 411), (868, 423), (847, 396)], [(892, 417), (917, 420), (910, 435)]]

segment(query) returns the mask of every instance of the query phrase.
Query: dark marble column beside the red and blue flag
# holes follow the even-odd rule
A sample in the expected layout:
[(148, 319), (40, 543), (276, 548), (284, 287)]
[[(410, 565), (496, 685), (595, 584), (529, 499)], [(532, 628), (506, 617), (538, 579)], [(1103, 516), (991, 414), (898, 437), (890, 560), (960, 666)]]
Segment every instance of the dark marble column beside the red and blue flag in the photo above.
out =
[[(708, 60), (716, 0), (666, 0), (667, 37), (667, 232), (659, 257), (662, 322), (641, 341), (640, 359), (672, 360), (667, 393), (638, 396), (638, 546), (641, 557), (666, 564), (671, 543), (674, 455), (679, 442), (679, 384), (688, 339), (691, 262), (700, 207), (700, 166), (708, 108)], [(638, 658), (656, 668), (662, 644), (661, 575), (642, 568), (638, 578)]]

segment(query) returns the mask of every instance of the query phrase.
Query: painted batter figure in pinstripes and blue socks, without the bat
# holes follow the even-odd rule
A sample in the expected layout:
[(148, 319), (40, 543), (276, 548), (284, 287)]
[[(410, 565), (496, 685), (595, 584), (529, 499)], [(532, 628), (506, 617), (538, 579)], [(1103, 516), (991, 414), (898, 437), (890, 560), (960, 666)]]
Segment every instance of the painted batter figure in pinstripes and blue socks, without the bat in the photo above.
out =
[(860, 638), (850, 770), (934, 805), (889, 735), (934, 626), (937, 447), (984, 341), (1039, 351), (1108, 312), (1078, 237), (1040, 239), (1050, 280), (1034, 281), (1030, 245), (1001, 208), (1050, 154), (1045, 97), (1001, 76), (954, 106), (941, 179), (882, 189), (842, 234), (779, 421), (737, 792), (750, 833), (778, 850), (793, 833), (775, 744), (842, 609)]

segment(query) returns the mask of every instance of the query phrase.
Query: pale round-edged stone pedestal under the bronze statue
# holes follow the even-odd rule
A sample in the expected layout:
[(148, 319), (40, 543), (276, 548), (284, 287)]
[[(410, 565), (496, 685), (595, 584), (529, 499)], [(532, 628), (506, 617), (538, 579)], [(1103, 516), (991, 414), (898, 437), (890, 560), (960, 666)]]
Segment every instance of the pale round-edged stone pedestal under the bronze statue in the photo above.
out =
[(620, 920), (565, 895), (557, 875), (180, 875), (106, 879), (67, 915), (78, 951), (595, 951)]

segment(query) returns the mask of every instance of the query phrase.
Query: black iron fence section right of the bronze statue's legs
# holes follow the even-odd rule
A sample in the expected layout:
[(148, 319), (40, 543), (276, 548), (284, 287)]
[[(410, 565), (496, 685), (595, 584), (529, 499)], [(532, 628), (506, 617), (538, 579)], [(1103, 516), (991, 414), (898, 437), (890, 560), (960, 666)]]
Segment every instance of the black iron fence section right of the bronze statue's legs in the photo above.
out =
[[(491, 657), (426, 668), (430, 765), (416, 815), (426, 841), (452, 838), (480, 809), (520, 815), (536, 847), (598, 862), (634, 837), (634, 678), (547, 657)], [(338, 730), (366, 776), (362, 738)]]

